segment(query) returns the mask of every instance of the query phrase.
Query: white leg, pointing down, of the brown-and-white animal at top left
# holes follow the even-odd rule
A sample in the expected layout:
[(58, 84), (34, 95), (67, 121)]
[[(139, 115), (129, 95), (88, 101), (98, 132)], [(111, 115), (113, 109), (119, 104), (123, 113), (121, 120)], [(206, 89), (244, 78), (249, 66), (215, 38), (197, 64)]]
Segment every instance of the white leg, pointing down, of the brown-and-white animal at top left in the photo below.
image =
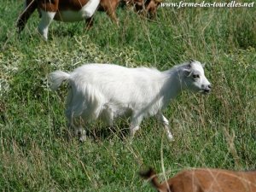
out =
[(44, 10), (40, 10), (42, 18), (38, 25), (38, 32), (43, 36), (44, 40), (48, 39), (48, 27), (51, 21), (54, 19), (56, 12), (46, 12)]

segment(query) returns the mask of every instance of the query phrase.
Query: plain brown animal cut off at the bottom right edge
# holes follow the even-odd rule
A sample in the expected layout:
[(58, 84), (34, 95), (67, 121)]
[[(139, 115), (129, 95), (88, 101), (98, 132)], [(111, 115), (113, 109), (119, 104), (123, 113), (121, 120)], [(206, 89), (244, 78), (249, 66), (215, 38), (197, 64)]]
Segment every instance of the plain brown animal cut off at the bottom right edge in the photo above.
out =
[(256, 171), (234, 172), (222, 169), (195, 169), (178, 173), (159, 183), (153, 171), (140, 172), (160, 192), (256, 192)]

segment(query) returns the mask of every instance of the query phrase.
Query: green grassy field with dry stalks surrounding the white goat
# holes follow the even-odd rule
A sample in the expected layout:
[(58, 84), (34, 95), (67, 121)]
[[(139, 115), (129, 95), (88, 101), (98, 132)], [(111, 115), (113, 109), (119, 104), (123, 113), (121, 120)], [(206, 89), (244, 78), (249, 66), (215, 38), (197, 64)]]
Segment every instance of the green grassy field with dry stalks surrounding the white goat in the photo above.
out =
[[(96, 13), (89, 31), (53, 22), (45, 43), (37, 13), (18, 37), (22, 2), (0, 3), (1, 191), (154, 191), (139, 170), (153, 166), (163, 180), (190, 167), (256, 168), (256, 5), (160, 8), (155, 21), (119, 9), (119, 27)], [(126, 120), (91, 125), (84, 143), (67, 140), (67, 84), (50, 91), (48, 73), (87, 62), (166, 70), (189, 58), (206, 62), (213, 89), (183, 92), (166, 108), (174, 142), (154, 118), (131, 144)]]

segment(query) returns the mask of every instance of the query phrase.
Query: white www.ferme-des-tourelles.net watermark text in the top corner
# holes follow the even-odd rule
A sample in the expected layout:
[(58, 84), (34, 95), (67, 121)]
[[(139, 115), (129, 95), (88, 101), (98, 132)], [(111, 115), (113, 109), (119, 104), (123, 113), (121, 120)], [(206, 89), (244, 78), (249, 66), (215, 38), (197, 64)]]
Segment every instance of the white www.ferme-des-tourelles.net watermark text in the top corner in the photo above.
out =
[(205, 1), (201, 3), (189, 3), (180, 1), (179, 3), (161, 3), (161, 7), (169, 7), (169, 8), (253, 8), (255, 2), (251, 3), (241, 3), (236, 1), (231, 1), (229, 3), (226, 2), (213, 2), (207, 3)]

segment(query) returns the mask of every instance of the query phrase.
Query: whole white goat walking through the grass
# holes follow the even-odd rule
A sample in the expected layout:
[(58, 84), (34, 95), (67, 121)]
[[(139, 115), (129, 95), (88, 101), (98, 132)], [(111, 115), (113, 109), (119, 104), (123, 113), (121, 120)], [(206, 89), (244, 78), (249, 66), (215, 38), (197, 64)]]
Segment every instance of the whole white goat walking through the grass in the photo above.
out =
[(56, 90), (67, 80), (66, 115), (80, 141), (85, 139), (84, 123), (102, 119), (109, 125), (119, 116), (131, 118), (131, 138), (143, 118), (157, 115), (172, 140), (169, 122), (161, 113), (181, 90), (209, 93), (211, 84), (199, 61), (190, 61), (160, 72), (154, 68), (127, 68), (113, 64), (86, 64), (73, 73), (49, 74), (49, 86)]

